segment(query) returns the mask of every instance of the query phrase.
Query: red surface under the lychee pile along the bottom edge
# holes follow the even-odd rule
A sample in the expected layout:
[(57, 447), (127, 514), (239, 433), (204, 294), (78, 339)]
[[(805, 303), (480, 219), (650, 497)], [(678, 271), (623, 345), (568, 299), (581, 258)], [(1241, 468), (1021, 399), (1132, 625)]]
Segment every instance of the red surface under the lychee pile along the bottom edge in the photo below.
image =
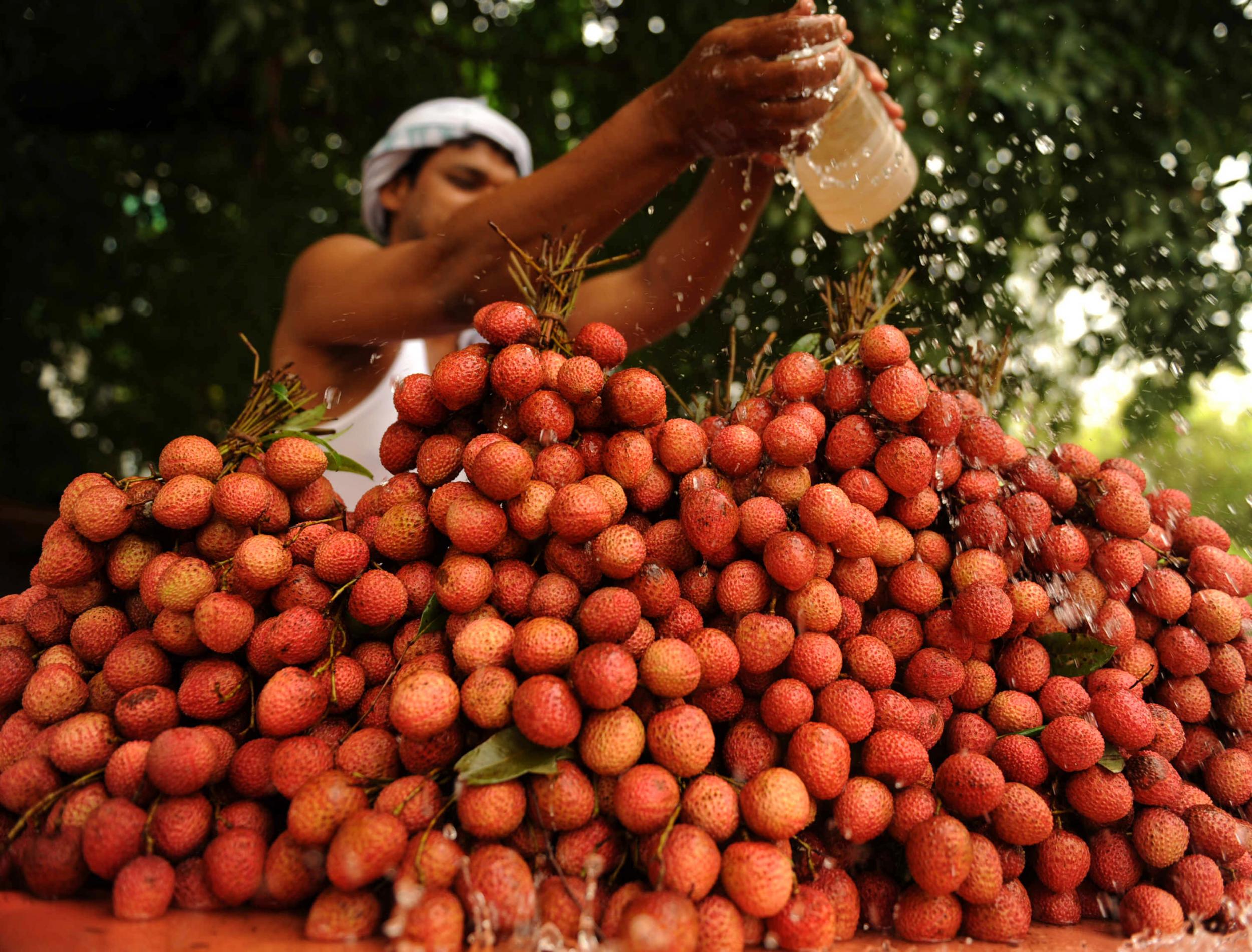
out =
[[(113, 918), (108, 898), (44, 902), (25, 893), (0, 892), (3, 952), (381, 952), (383, 944), (382, 938), (356, 943), (308, 942), (302, 912), (170, 909), (160, 919), (136, 923)], [(1083, 922), (1072, 928), (1037, 926), (1017, 948), (1019, 952), (1114, 952), (1121, 944), (1122, 936), (1116, 923)], [(840, 949), (871, 952), (888, 946), (898, 952), (915, 948), (909, 942), (865, 933), (843, 943)], [(958, 939), (921, 948), (935, 952), (1004, 952), (1005, 947)]]

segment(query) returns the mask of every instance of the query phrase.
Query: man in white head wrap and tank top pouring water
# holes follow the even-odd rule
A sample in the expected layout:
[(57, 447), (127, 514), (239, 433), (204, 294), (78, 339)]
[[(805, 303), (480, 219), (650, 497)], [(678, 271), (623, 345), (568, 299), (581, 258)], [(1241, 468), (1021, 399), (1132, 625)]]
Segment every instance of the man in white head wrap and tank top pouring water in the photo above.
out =
[[(838, 75), (840, 53), (795, 54), (850, 34), (841, 16), (814, 10), (814, 0), (800, 0), (711, 30), (669, 76), (533, 174), (525, 133), (481, 103), (433, 100), (397, 119), (367, 157), (362, 183), (366, 225), (382, 244), (339, 234), (307, 249), (274, 337), (274, 363), (294, 363), (336, 403), (347, 431), (337, 448), (382, 479), (392, 382), (454, 349), (478, 307), (516, 297), (507, 249), (488, 222), (523, 248), (558, 233), (600, 243), (710, 157), (699, 192), (641, 261), (583, 282), (570, 329), (605, 321), (635, 348), (699, 313), (769, 199), (775, 169), (754, 157), (806, 148), (806, 130), (829, 106), (819, 93)], [(861, 68), (885, 89), (871, 63)], [(328, 476), (349, 507), (371, 485)]]

